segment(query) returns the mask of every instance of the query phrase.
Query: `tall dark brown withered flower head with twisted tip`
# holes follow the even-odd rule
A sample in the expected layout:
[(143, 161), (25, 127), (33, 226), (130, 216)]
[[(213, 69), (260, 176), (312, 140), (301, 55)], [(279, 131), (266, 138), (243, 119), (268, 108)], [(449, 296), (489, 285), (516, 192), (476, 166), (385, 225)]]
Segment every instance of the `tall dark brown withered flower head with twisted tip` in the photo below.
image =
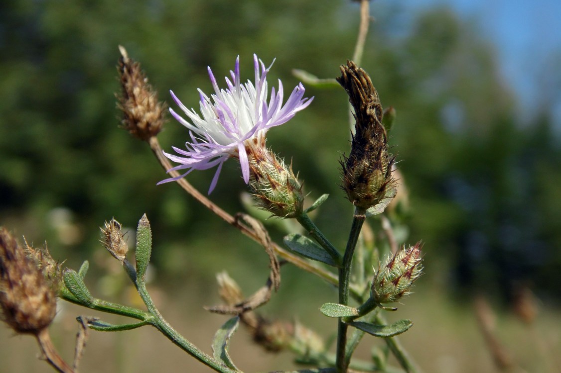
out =
[(341, 73), (337, 81), (347, 91), (356, 119), (351, 153), (341, 161), (342, 188), (357, 207), (387, 205), (397, 192), (397, 181), (392, 176), (396, 158), (388, 152), (378, 92), (370, 76), (354, 62), (341, 66)]

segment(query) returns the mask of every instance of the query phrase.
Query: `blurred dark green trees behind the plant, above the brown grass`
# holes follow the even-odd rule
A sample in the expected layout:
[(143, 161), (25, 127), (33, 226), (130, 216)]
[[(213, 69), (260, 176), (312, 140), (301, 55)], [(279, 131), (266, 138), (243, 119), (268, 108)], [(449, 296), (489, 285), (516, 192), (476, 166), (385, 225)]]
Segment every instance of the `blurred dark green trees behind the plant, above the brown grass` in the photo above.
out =
[[(519, 123), (524, 103), (501, 81), (493, 47), (452, 12), (411, 15), (392, 2), (373, 2), (372, 12), (362, 67), (384, 106), (397, 110), (390, 142), (409, 191), (409, 241), (425, 241), (428, 276), (454, 279), (450, 290), (508, 298), (525, 283), (561, 297), (561, 151), (548, 108)], [(117, 45), (142, 63), (161, 100), (172, 89), (196, 107), (196, 88), (210, 88), (206, 66), (226, 76), (237, 55), (246, 78), (252, 53), (265, 64), (277, 58), (269, 83), (282, 78), (288, 91), (298, 83), (292, 68), (338, 76), (357, 27), (358, 5), (342, 0), (3, 1), (0, 223), (35, 244), (47, 239), (72, 262), (99, 249), (104, 220), (136, 226), (146, 212), (155, 264), (168, 277), (210, 278), (224, 257), (240, 273), (261, 264), (265, 278), (257, 245), (178, 186), (156, 186), (165, 175), (149, 148), (117, 128)], [(315, 96), (310, 108), (272, 130), (268, 144), (292, 159), (312, 198), (331, 195), (317, 220), (341, 246), (350, 224), (341, 216), (351, 213), (337, 185), (338, 160), (350, 148), (347, 96), (312, 87), (306, 94)], [(182, 138), (174, 120), (160, 135), (167, 150)], [(230, 212), (242, 210), (237, 168), (227, 163), (211, 195)], [(212, 176), (188, 179), (206, 191)]]

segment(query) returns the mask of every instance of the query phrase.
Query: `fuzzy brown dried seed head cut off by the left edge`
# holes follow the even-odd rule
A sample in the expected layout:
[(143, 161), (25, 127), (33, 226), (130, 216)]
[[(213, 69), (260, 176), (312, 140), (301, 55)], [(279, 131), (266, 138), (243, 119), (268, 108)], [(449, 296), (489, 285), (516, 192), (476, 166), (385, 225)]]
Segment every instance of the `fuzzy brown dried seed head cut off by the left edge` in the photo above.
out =
[(56, 314), (56, 296), (43, 272), (10, 233), (0, 228), (0, 306), (18, 333), (39, 334)]

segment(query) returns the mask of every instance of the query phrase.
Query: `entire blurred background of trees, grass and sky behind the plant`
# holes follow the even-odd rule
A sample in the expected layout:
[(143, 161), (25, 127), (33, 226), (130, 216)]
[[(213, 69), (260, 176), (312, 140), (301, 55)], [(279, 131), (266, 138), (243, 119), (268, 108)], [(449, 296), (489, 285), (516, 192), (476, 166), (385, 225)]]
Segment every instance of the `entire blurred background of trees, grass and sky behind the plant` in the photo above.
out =
[[(537, 2), (542, 13), (512, 18), (521, 24), (514, 31), (500, 16), (508, 3), (491, 3), (496, 18), (462, 1), (371, 3), (375, 22), (362, 67), (382, 104), (397, 110), (390, 142), (408, 190), (402, 223), (408, 242), (425, 243), (426, 274), (398, 316), (416, 323), (402, 339), (427, 372), (493, 371), (475, 327), (472, 299), (480, 293), (523, 369), (553, 372), (560, 365), (551, 355), (561, 346), (561, 43), (536, 32), (526, 43), (548, 48), (513, 57), (519, 49), (512, 46), (527, 36), (519, 33), (525, 20), (549, 20), (548, 10), (558, 8), (548, 8), (553, 0)], [(226, 269), (249, 293), (266, 278), (267, 257), (177, 185), (155, 185), (165, 174), (149, 148), (118, 128), (117, 45), (142, 63), (161, 100), (169, 101), (172, 89), (197, 106), (196, 88), (210, 89), (206, 67), (226, 76), (237, 55), (245, 78), (253, 76), (253, 53), (265, 64), (276, 58), (269, 83), (281, 78), (287, 91), (298, 83), (293, 68), (338, 76), (357, 27), (358, 4), (343, 0), (3, 1), (0, 224), (35, 245), (47, 241), (68, 267), (89, 259), (88, 284), (99, 296), (134, 303), (98, 243), (98, 227), (113, 216), (134, 227), (147, 213), (154, 293), (172, 324), (206, 348), (224, 322), (202, 310), (219, 302), (215, 273)], [(517, 71), (512, 58), (528, 68)], [(310, 197), (330, 194), (316, 222), (342, 246), (351, 215), (338, 187), (338, 160), (349, 149), (347, 96), (341, 88), (307, 86), (306, 93), (315, 96), (312, 105), (270, 131), (268, 145), (292, 160)], [(169, 120), (160, 142), (169, 150), (186, 136)], [(194, 172), (188, 180), (205, 192), (212, 176)], [(231, 213), (243, 211), (244, 190), (238, 165), (229, 161), (211, 199)], [(270, 229), (279, 241), (282, 230)], [(531, 327), (512, 312), (528, 290), (539, 312)], [(334, 299), (332, 288), (285, 266), (281, 290), (264, 313), (296, 317), (328, 336), (334, 324), (317, 309)], [(53, 327), (68, 356), (73, 317), (84, 311), (65, 305)], [(0, 334), (1, 371), (49, 371), (35, 361), (31, 338), (11, 337), (6, 328)], [(242, 369), (292, 366), (290, 355), (245, 347), (249, 337), (238, 334), (234, 345), (243, 347), (232, 355)], [(429, 352), (421, 348), (427, 343), (434, 346)], [(205, 371), (154, 330), (93, 334), (82, 371), (159, 369)]]

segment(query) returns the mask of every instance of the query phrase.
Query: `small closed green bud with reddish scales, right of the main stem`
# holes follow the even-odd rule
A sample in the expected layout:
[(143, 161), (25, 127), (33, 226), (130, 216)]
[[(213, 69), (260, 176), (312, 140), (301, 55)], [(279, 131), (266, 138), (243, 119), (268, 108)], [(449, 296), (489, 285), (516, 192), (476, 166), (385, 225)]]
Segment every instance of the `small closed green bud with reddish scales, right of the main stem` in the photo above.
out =
[(376, 303), (391, 303), (410, 293), (422, 271), (421, 243), (399, 250), (374, 276), (371, 297)]

